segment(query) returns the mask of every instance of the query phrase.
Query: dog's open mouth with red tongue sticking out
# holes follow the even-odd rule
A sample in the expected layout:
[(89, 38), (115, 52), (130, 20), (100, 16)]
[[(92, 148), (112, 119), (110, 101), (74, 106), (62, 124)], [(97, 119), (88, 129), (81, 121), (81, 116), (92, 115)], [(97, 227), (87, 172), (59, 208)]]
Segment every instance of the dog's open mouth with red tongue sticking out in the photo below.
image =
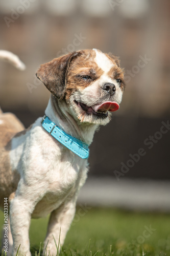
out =
[(75, 102), (88, 115), (94, 114), (95, 116), (98, 116), (98, 117), (107, 117), (108, 111), (114, 112), (119, 109), (119, 105), (115, 101), (105, 101), (102, 104), (96, 104), (92, 106), (87, 106), (86, 104), (76, 100)]

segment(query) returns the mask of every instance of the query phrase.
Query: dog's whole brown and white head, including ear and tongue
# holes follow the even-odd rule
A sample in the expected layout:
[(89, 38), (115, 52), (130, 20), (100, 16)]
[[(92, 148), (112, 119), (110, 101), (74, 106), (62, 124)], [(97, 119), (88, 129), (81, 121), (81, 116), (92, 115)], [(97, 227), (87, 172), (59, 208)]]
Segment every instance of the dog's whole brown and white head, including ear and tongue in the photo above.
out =
[(125, 89), (118, 58), (100, 50), (82, 50), (41, 65), (37, 77), (72, 116), (105, 125), (118, 109)]

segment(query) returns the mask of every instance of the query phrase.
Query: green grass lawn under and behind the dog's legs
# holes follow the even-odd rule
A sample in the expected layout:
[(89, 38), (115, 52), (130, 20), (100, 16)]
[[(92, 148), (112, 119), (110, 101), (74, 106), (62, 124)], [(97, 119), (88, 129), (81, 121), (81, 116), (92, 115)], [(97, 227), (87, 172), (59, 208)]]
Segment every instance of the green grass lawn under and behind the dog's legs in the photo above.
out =
[[(81, 211), (82, 212), (82, 211)], [(48, 219), (32, 220), (32, 255), (39, 252)], [(3, 225), (3, 215), (0, 215)], [(154, 230), (147, 230), (149, 228)], [(42, 247), (42, 246), (41, 246)], [(41, 250), (42, 252), (42, 250)], [(107, 208), (91, 208), (71, 225), (62, 247), (62, 256), (168, 256), (170, 255), (170, 216), (142, 214)]]

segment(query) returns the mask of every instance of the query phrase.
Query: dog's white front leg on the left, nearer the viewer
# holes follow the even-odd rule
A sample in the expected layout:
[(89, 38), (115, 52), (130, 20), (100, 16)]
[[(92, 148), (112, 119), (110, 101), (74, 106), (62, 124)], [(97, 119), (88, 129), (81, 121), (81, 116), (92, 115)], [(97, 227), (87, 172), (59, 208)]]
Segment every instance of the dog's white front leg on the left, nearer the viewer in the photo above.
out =
[(12, 254), (16, 256), (19, 247), (19, 255), (31, 256), (29, 228), (31, 214), (40, 198), (40, 191), (36, 186), (26, 185), (20, 180), (16, 194), (10, 201), (10, 223), (13, 238)]

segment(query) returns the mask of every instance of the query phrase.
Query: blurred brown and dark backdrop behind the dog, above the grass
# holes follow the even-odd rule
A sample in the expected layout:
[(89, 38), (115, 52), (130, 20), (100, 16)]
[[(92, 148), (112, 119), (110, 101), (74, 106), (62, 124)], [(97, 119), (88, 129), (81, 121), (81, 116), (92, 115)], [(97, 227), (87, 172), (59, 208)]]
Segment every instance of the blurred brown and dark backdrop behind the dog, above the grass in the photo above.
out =
[(169, 0), (1, 0), (0, 18), (0, 49), (27, 66), (20, 72), (0, 62), (1, 108), (26, 127), (43, 116), (50, 96), (35, 76), (42, 63), (87, 48), (120, 57), (123, 102), (94, 136), (79, 200), (170, 210)]

